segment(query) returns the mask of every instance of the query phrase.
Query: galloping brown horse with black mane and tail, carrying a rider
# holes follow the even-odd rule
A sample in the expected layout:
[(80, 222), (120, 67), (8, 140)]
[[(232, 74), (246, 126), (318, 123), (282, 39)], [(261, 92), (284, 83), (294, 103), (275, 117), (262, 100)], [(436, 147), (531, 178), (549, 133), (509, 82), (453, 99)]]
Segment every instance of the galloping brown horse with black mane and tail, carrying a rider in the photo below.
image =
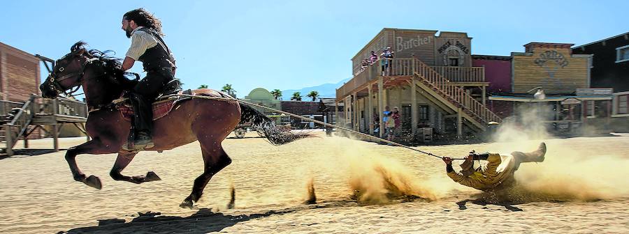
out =
[[(121, 149), (121, 146), (127, 143), (131, 123), (122, 118), (112, 101), (120, 98), (122, 93), (133, 87), (137, 81), (126, 79), (125, 75), (129, 74), (120, 69), (121, 65), (117, 59), (95, 49), (87, 51), (84, 46), (84, 42), (73, 45), (71, 52), (55, 63), (52, 73), (40, 87), (44, 98), (56, 98), (59, 93), (78, 86), (82, 86), (85, 92), (90, 111), (85, 128), (92, 140), (69, 148), (66, 152), (66, 161), (74, 180), (101, 189), (101, 180), (96, 176), (86, 177), (78, 168), (75, 157), (80, 154), (108, 153), (118, 153), (110, 172), (114, 180), (138, 184), (159, 180), (153, 172), (147, 173), (146, 176), (123, 176), (120, 173), (138, 152)], [(201, 93), (207, 97), (224, 97), (221, 93), (209, 89), (196, 90), (194, 93)], [(275, 127), (272, 120), (259, 111), (235, 99), (193, 98), (179, 102), (170, 114), (155, 120), (152, 133), (155, 146), (146, 150), (170, 150), (193, 141), (201, 144), (204, 171), (194, 180), (192, 192), (181, 203), (182, 207), (189, 208), (198, 201), (212, 176), (231, 163), (221, 143), (236, 125), (245, 122), (251, 122), (270, 143), (289, 143), (305, 137), (280, 130)]]

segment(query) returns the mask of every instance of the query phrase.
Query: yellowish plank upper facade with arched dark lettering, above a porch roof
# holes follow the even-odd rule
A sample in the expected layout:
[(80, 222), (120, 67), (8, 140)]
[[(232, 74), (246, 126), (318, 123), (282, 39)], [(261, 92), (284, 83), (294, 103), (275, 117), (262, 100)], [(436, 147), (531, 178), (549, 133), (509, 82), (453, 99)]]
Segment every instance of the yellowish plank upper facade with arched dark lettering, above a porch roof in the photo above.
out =
[(568, 48), (533, 48), (513, 54), (513, 93), (536, 86), (544, 93), (573, 93), (588, 88), (588, 59), (572, 57)]

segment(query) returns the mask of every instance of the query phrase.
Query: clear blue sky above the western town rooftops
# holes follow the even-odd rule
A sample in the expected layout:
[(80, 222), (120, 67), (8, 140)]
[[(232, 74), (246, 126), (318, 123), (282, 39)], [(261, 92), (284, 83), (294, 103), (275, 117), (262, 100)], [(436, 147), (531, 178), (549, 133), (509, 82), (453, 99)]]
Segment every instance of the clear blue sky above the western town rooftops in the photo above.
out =
[[(472, 54), (528, 42), (577, 45), (629, 31), (629, 1), (3, 1), (0, 42), (51, 59), (78, 40), (124, 56), (122, 15), (162, 20), (185, 88), (298, 89), (352, 76), (354, 56), (382, 28), (463, 31)], [(625, 15), (625, 16), (623, 16)], [(141, 71), (136, 63), (133, 71)], [(289, 94), (284, 94), (289, 95)]]

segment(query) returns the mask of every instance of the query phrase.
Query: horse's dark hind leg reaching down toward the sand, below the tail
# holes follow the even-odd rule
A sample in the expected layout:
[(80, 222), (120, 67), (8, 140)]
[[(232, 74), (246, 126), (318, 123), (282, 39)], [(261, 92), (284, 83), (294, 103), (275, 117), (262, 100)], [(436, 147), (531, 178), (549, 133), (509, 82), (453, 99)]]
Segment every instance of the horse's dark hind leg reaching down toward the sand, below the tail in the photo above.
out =
[(203, 189), (205, 189), (205, 185), (208, 185), (212, 176), (231, 164), (231, 159), (227, 153), (225, 153), (220, 143), (216, 142), (215, 139), (199, 139), (201, 152), (203, 153), (203, 174), (194, 180), (190, 196), (185, 198), (180, 205), (182, 208), (192, 208), (194, 202), (201, 198)]

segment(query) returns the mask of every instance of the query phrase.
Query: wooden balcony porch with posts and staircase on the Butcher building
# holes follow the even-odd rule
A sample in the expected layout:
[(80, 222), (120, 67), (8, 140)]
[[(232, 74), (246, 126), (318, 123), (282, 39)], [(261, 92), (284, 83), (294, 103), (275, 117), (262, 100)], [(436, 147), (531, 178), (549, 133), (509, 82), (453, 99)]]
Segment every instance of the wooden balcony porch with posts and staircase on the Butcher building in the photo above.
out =
[[(444, 75), (449, 75), (452, 80)], [(457, 134), (461, 136), (462, 125), (468, 125), (477, 132), (484, 132), (486, 124), (492, 121), (499, 122), (500, 118), (485, 107), (485, 87), (489, 83), (484, 82), (484, 68), (477, 67), (431, 67), (419, 59), (394, 59), (389, 70), (382, 70), (379, 65), (370, 65), (366, 70), (359, 72), (353, 79), (337, 89), (337, 102), (345, 102), (345, 98), (354, 97), (359, 100), (364, 97), (376, 95), (379, 119), (384, 117), (383, 91), (397, 86), (411, 87), (411, 111), (412, 133), (417, 132), (417, 93), (424, 93), (431, 104), (440, 107), (457, 118)], [(481, 86), (481, 102), (472, 98), (465, 92), (463, 86)], [(373, 107), (372, 98), (367, 99), (368, 106)], [(347, 104), (347, 103), (345, 103)], [(354, 102), (354, 110), (357, 109)], [(352, 113), (351, 123), (359, 119), (356, 111)], [(373, 116), (371, 108), (366, 109), (367, 116)], [(382, 122), (382, 121), (381, 121)], [(353, 126), (357, 130), (357, 126)], [(380, 123), (380, 129), (384, 129), (384, 123)], [(369, 132), (373, 134), (373, 118), (369, 118)], [(382, 137), (382, 131), (380, 131)]]

